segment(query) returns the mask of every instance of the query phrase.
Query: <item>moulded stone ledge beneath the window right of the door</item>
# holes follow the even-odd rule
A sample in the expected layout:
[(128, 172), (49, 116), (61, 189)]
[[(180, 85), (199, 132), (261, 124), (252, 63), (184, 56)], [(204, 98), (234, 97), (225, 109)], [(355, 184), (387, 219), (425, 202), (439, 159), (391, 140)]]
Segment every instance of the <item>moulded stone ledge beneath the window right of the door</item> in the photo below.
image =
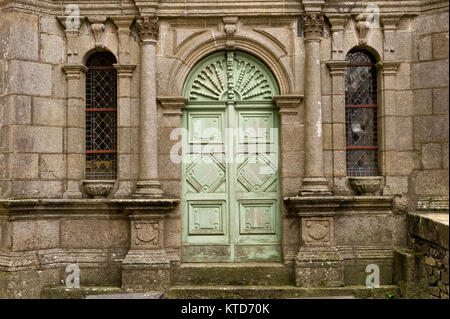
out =
[(288, 212), (294, 215), (334, 215), (339, 211), (386, 211), (392, 209), (392, 196), (295, 196), (284, 197)]

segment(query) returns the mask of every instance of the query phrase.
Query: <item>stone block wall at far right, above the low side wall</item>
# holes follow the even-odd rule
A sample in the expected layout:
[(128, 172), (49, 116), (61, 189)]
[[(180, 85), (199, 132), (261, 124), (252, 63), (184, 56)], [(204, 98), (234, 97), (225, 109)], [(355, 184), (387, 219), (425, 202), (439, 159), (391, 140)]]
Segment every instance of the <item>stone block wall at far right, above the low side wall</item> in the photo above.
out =
[(416, 62), (411, 65), (414, 150), (418, 156), (411, 193), (448, 196), (448, 48), (447, 10), (424, 12), (415, 19)]

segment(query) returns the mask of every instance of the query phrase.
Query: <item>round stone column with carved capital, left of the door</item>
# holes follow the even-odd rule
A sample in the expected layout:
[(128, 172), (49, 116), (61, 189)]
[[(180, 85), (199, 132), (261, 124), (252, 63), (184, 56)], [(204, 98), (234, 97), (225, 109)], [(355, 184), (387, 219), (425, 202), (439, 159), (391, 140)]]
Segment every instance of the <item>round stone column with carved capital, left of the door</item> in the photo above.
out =
[(141, 105), (139, 127), (139, 181), (135, 197), (161, 198), (158, 178), (158, 131), (156, 108), (156, 44), (158, 20), (142, 17), (136, 21), (141, 40)]

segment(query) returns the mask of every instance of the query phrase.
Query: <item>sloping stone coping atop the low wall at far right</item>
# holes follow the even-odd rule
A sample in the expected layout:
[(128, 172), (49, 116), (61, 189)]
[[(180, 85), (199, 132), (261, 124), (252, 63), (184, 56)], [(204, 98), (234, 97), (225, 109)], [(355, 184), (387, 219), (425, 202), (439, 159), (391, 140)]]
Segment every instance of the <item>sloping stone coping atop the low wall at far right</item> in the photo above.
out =
[(426, 241), (449, 249), (449, 215), (448, 213), (420, 213), (408, 214), (408, 232), (413, 237), (420, 237)]

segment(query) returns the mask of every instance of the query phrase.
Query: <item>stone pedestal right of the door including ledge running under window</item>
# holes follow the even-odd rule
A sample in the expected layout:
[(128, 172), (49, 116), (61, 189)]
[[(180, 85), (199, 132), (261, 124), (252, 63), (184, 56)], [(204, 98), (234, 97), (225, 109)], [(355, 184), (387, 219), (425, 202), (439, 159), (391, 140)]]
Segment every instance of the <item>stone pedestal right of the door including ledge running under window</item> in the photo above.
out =
[(300, 249), (295, 282), (300, 287), (344, 286), (345, 260), (335, 243), (334, 219), (342, 210), (389, 211), (387, 196), (297, 196), (284, 198), (288, 214), (299, 220)]

